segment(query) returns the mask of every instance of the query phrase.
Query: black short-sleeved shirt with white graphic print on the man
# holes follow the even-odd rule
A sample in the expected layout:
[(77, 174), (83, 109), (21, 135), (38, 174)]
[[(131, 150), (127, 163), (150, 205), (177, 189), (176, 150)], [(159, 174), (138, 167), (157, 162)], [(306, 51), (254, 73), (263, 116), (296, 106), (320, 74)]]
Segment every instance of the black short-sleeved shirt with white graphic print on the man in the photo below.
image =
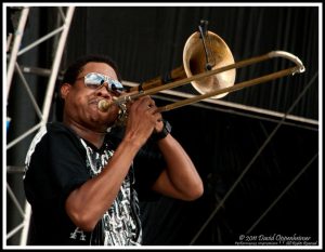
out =
[(116, 200), (93, 231), (81, 230), (65, 212), (68, 195), (105, 169), (119, 141), (119, 135), (107, 134), (98, 149), (60, 122), (48, 123), (38, 132), (26, 156), (24, 175), (32, 210), (30, 244), (141, 244), (139, 198), (155, 197), (148, 194), (150, 187), (165, 165), (157, 151), (139, 151)]

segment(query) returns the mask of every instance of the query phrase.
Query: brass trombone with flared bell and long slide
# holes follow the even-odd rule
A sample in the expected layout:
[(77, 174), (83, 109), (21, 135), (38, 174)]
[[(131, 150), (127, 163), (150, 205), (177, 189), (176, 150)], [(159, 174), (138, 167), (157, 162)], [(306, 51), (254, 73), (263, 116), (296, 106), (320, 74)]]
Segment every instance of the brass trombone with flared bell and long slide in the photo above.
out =
[[(202, 35), (203, 34), (196, 31), (186, 40), (183, 49), (183, 66), (171, 72), (171, 77), (177, 79), (176, 81), (164, 84), (161, 78), (155, 78), (136, 87), (135, 90), (131, 89), (130, 93), (116, 98), (114, 102), (108, 103), (106, 100), (100, 101), (99, 109), (106, 111), (112, 105), (118, 105), (119, 107), (126, 106), (128, 102), (139, 97), (192, 83), (199, 95), (158, 107), (159, 112), (169, 111), (200, 102), (205, 98), (220, 98), (227, 93), (244, 88), (289, 75), (301, 74), (306, 69), (302, 62), (297, 56), (285, 51), (271, 51), (266, 54), (235, 63), (229, 47), (218, 35), (206, 31), (206, 42)], [(236, 68), (242, 68), (275, 57), (286, 58), (295, 63), (296, 66), (234, 84)], [(184, 76), (186, 78), (184, 78)]]

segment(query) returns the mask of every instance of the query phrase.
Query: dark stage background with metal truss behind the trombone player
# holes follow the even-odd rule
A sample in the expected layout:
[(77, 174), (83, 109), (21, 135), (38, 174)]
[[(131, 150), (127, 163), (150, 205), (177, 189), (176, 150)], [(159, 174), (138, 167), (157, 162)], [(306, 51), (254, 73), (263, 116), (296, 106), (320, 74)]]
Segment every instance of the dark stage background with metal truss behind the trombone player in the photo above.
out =
[[(40, 123), (60, 116), (56, 85), (67, 65), (84, 54), (106, 54), (118, 64), (125, 84), (138, 85), (182, 66), (186, 40), (208, 21), (208, 30), (224, 40), (235, 62), (282, 50), (299, 57), (306, 71), (164, 112), (196, 164), (205, 194), (193, 202), (166, 197), (142, 202), (144, 244), (234, 246), (243, 234), (296, 234), (318, 244), (320, 6), (2, 6), (3, 110), (10, 122), (3, 130), (3, 243), (24, 244), (28, 236), (25, 156)], [(291, 65), (274, 58), (240, 68), (235, 83)], [(154, 98), (166, 105), (196, 94), (187, 84)]]

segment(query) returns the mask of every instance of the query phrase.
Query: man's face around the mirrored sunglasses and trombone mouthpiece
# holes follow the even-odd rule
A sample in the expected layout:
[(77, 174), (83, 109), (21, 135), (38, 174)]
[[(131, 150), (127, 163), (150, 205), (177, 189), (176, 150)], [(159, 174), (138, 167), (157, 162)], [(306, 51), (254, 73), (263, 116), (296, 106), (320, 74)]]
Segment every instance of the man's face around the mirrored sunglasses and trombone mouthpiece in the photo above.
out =
[(62, 97), (65, 100), (64, 119), (68, 123), (78, 123), (95, 131), (105, 131), (117, 118), (118, 108), (112, 106), (103, 112), (98, 104), (105, 98), (112, 102), (114, 94), (107, 90), (107, 83), (98, 89), (84, 85), (84, 76), (89, 72), (98, 72), (117, 80), (115, 70), (105, 63), (88, 63), (77, 77), (74, 84), (65, 83), (61, 89)]

